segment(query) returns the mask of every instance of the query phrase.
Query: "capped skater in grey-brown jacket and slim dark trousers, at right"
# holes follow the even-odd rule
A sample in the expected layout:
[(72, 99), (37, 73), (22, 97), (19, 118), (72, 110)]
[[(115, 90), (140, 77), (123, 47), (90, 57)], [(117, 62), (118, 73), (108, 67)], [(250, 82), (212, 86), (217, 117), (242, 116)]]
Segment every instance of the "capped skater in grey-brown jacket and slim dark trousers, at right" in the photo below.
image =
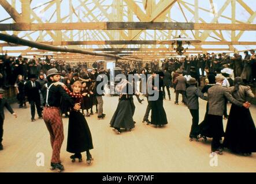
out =
[(198, 139), (198, 122), (199, 122), (199, 102), (198, 97), (202, 98), (203, 100), (207, 100), (207, 97), (203, 95), (201, 90), (196, 87), (197, 82), (195, 78), (191, 78), (188, 81), (190, 85), (186, 92), (187, 92), (187, 99), (188, 99), (188, 109), (190, 109), (190, 113), (192, 116), (192, 126), (190, 131), (190, 140)]

